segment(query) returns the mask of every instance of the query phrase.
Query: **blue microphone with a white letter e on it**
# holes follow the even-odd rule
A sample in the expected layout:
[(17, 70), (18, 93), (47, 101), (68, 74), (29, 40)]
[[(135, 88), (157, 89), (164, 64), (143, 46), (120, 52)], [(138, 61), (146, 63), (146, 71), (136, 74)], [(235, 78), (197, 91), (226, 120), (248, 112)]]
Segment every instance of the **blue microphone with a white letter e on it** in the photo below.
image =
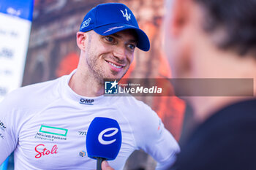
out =
[(121, 130), (116, 120), (95, 117), (86, 133), (88, 157), (97, 159), (97, 170), (104, 160), (114, 160), (121, 147)]

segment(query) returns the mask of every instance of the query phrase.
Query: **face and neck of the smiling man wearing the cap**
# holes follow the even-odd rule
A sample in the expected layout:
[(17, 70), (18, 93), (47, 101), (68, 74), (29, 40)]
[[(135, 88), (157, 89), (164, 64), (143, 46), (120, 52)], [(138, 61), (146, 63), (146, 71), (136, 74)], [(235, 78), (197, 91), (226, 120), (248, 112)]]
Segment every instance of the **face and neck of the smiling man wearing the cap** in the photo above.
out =
[[(95, 31), (86, 33), (79, 31), (77, 42), (81, 50), (80, 62), (77, 72), (69, 82), (70, 87), (77, 90), (76, 85), (80, 85), (73, 80), (89, 81), (93, 84), (86, 83), (89, 90), (81, 90), (81, 95), (99, 96), (104, 93), (102, 88), (104, 78), (121, 79), (129, 69), (138, 43), (135, 35), (135, 31), (130, 29), (108, 36), (97, 34)], [(86, 79), (83, 80), (83, 77)], [(99, 91), (94, 93), (91, 88)]]

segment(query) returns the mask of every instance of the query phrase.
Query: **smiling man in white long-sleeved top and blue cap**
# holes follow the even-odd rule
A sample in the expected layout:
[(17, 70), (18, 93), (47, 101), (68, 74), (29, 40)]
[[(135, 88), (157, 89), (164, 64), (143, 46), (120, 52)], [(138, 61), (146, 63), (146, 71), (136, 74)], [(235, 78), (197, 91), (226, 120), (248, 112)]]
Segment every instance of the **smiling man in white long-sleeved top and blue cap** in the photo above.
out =
[(0, 164), (14, 151), (15, 169), (96, 169), (86, 155), (86, 131), (94, 117), (118, 121), (122, 143), (114, 169), (134, 150), (148, 152), (157, 169), (175, 161), (179, 147), (157, 114), (133, 97), (103, 96), (104, 79), (119, 80), (135, 47), (149, 50), (146, 34), (124, 4), (100, 4), (77, 33), (78, 68), (59, 79), (13, 91), (0, 104)]

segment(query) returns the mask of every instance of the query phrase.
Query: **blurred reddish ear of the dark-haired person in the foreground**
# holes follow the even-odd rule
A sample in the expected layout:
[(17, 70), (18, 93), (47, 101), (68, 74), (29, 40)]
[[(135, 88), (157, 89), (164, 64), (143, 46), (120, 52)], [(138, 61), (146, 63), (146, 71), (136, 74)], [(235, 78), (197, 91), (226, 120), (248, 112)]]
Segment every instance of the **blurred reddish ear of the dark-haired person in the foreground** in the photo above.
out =
[(192, 0), (173, 0), (172, 9), (170, 9), (170, 34), (178, 36), (182, 29), (189, 22)]

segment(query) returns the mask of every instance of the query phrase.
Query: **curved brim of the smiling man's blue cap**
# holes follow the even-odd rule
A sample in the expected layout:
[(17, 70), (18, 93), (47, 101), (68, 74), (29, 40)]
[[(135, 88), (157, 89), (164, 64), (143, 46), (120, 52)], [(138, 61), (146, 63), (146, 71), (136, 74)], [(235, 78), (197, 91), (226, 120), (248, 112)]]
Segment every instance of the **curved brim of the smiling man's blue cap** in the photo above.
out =
[(131, 26), (128, 24), (121, 24), (121, 23), (115, 23), (115, 24), (109, 24), (106, 26), (100, 26), (98, 28), (93, 28), (97, 34), (100, 34), (102, 36), (108, 36), (110, 34), (115, 34), (118, 31), (123, 31), (126, 29), (133, 29), (136, 31), (138, 35), (138, 45), (137, 47), (140, 50), (148, 51), (150, 49), (150, 42), (148, 39), (148, 36), (144, 31), (142, 31), (140, 28), (137, 28), (135, 26)]

